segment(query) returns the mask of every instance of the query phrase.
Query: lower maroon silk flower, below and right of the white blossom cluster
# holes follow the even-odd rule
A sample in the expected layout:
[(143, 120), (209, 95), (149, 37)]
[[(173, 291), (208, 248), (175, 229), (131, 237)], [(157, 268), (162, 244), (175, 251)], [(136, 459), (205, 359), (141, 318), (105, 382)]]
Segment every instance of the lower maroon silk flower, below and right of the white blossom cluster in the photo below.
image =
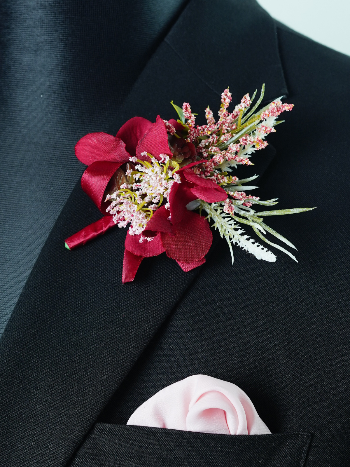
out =
[(132, 268), (136, 274), (136, 262), (140, 265), (143, 258), (159, 255), (163, 251), (178, 262), (185, 272), (205, 262), (205, 255), (212, 243), (210, 226), (207, 219), (196, 212), (188, 211), (186, 205), (197, 199), (199, 192), (201, 199), (209, 203), (223, 201), (227, 194), (215, 182), (198, 177), (188, 166), (177, 173), (180, 174), (181, 184), (175, 182), (171, 187), (170, 210), (165, 206), (158, 208), (141, 234), (144, 237), (154, 237), (153, 240), (140, 243), (141, 235), (126, 234), (125, 248), (135, 259), (131, 262), (130, 255), (124, 256), (123, 281), (126, 277), (130, 278), (129, 269)]

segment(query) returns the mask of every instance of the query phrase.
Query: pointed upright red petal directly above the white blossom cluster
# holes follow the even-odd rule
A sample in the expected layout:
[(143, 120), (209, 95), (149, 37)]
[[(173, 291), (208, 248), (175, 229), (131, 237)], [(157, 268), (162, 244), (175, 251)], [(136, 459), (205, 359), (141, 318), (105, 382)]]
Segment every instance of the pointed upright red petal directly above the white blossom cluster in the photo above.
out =
[(142, 152), (149, 152), (158, 160), (160, 160), (160, 154), (167, 154), (170, 157), (173, 156), (169, 149), (168, 134), (165, 124), (159, 115), (155, 123), (150, 127), (137, 145), (136, 156), (139, 159)]

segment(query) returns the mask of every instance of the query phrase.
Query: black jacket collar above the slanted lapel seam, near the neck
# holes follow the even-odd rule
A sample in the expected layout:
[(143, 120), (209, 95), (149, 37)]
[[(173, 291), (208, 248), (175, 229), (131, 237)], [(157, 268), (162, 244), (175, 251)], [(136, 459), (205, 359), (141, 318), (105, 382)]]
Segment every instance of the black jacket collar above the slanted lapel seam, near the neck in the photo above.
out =
[(192, 0), (165, 41), (218, 95), (230, 86), (234, 104), (263, 83), (266, 101), (287, 94), (274, 21), (255, 0)]

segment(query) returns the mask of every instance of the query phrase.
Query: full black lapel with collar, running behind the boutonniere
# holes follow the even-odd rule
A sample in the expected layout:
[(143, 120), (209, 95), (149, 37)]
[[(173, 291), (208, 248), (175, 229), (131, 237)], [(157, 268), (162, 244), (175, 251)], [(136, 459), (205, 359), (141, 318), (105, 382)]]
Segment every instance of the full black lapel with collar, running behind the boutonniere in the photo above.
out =
[[(192, 0), (140, 75), (113, 133), (134, 115), (174, 117), (171, 99), (203, 113), (208, 104), (218, 109), (227, 85), (237, 100), (264, 81), (269, 98), (287, 92), (271, 18), (252, 1)], [(0, 416), (8, 445), (16, 445), (14, 464), (16, 456), (43, 466), (70, 459), (203, 269), (184, 273), (162, 254), (121, 285), (125, 229), (76, 251), (63, 246), (97, 219), (78, 183), (1, 339)]]

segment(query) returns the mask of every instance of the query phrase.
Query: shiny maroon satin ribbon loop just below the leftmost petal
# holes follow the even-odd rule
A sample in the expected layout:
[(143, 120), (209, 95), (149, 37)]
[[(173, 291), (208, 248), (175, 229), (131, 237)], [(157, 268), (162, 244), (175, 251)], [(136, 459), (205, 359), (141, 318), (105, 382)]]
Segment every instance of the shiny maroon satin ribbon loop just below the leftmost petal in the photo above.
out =
[(81, 186), (83, 190), (104, 214), (108, 206), (108, 203), (105, 203), (103, 199), (105, 188), (114, 172), (119, 169), (121, 165), (122, 162), (93, 162), (84, 171), (83, 177), (81, 177)]

